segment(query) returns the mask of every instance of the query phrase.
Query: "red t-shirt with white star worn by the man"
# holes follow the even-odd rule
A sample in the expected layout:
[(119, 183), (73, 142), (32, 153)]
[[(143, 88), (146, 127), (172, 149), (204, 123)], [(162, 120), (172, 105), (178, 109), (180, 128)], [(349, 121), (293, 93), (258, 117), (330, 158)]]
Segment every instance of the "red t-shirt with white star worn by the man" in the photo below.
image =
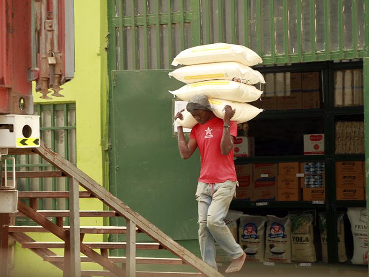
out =
[[(223, 120), (215, 117), (205, 124), (196, 124), (189, 138), (195, 138), (201, 155), (199, 182), (222, 183), (227, 180), (237, 181), (233, 150), (222, 155), (220, 141), (223, 135)], [(230, 133), (237, 137), (237, 123), (231, 121)]]

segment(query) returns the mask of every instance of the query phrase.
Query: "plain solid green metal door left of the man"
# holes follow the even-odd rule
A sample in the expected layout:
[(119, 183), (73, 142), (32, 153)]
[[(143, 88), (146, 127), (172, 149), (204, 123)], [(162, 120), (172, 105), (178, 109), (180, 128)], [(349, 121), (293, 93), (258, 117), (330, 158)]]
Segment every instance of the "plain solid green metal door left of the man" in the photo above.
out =
[(112, 71), (110, 190), (174, 240), (197, 240), (200, 159), (179, 155), (169, 71)]

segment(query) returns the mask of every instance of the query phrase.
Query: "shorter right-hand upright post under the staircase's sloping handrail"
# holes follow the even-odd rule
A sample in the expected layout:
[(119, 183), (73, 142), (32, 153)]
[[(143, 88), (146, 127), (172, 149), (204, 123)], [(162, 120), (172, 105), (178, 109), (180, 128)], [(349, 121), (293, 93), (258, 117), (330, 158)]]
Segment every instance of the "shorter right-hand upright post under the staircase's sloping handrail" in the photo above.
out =
[(126, 276), (136, 277), (136, 224), (127, 219)]

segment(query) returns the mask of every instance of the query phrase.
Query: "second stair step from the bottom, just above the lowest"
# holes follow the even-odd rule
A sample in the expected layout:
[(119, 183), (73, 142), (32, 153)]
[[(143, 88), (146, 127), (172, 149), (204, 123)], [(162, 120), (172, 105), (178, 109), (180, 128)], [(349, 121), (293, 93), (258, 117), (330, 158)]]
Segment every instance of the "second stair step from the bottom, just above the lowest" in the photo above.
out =
[[(109, 256), (109, 261), (113, 263), (125, 263), (126, 257), (115, 257)], [(46, 262), (63, 262), (64, 256), (44, 256), (44, 261)], [(87, 256), (81, 256), (81, 262), (85, 263), (93, 263), (94, 261)], [(181, 259), (173, 259), (173, 258), (143, 258), (136, 257), (137, 264), (160, 264), (160, 265), (184, 265), (184, 262)]]

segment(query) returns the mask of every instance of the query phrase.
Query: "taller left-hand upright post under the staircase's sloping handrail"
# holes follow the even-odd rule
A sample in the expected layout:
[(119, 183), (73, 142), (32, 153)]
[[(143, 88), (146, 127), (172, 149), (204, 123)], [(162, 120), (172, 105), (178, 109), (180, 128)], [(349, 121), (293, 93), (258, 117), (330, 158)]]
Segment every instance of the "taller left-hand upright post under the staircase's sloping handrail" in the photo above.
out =
[(79, 183), (69, 177), (70, 273), (81, 276), (81, 235), (79, 225)]

